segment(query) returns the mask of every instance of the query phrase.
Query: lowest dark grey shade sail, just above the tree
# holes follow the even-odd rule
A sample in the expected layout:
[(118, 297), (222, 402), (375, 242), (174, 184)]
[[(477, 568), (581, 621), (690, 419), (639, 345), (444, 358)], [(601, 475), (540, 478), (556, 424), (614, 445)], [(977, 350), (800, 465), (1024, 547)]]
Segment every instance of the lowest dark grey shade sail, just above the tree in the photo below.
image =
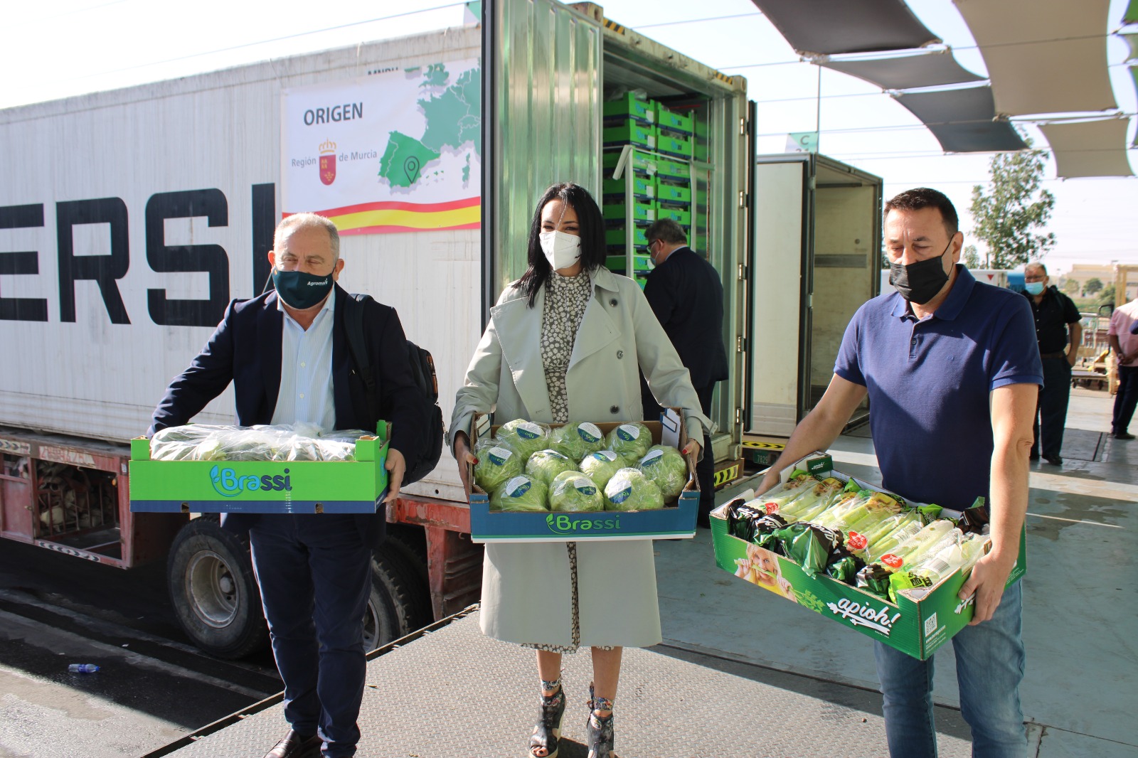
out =
[(894, 97), (929, 127), (946, 153), (996, 153), (1028, 147), (1012, 124), (992, 121), (996, 110), (989, 86)]

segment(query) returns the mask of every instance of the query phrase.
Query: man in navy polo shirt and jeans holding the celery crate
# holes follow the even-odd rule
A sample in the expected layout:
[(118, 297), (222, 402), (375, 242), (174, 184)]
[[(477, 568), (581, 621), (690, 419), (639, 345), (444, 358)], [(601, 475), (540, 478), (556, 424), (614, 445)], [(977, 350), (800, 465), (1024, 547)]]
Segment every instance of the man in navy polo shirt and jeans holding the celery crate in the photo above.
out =
[[(1031, 423), (1042, 384), (1031, 308), (957, 265), (964, 236), (942, 193), (901, 192), (885, 204), (884, 221), (897, 293), (855, 314), (830, 387), (781, 458), (826, 450), (868, 394), (887, 489), (957, 510), (987, 497), (992, 547), (960, 588), (960, 599), (975, 593), (975, 616), (953, 637), (960, 710), (973, 755), (1025, 756), (1021, 588), (1004, 585), (1028, 508)], [(760, 492), (777, 481), (772, 470)], [(932, 659), (874, 645), (890, 755), (934, 757)]]

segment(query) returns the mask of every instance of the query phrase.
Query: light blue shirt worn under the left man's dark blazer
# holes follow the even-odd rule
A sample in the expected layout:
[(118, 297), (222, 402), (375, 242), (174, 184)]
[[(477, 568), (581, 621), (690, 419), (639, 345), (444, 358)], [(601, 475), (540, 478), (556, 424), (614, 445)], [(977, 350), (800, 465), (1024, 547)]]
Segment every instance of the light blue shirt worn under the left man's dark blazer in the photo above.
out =
[(315, 423), (324, 431), (336, 428), (332, 395), (332, 324), (336, 293), (329, 294), (312, 324), (304, 329), (288, 314), (281, 330), (281, 386), (273, 410), (273, 423)]

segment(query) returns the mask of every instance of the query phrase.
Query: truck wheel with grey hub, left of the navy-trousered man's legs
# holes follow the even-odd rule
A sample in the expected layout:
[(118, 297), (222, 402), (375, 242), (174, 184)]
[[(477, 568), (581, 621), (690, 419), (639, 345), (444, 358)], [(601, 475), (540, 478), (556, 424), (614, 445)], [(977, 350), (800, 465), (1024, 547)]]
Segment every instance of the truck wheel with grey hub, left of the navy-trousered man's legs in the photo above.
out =
[(179, 625), (201, 650), (244, 658), (267, 644), (249, 551), (216, 517), (193, 519), (179, 530), (166, 582)]

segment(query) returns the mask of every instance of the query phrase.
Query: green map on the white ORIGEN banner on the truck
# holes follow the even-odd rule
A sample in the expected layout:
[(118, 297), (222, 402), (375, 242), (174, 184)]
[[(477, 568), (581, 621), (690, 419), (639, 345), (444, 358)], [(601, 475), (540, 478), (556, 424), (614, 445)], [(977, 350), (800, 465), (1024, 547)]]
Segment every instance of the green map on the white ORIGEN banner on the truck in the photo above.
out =
[[(451, 77), (443, 64), (420, 71), (423, 75), (420, 86), (438, 86)], [(467, 142), (472, 142), (475, 155), (481, 157), (480, 79), (480, 68), (472, 68), (463, 72), (442, 94), (419, 100), (419, 107), (427, 117), (422, 135), (415, 138), (393, 131), (384, 157), (379, 159), (379, 175), (391, 187), (411, 187), (423, 175), (428, 164), (442, 156), (444, 149), (457, 150)], [(462, 170), (464, 182), (470, 179), (470, 157), (468, 154)]]

